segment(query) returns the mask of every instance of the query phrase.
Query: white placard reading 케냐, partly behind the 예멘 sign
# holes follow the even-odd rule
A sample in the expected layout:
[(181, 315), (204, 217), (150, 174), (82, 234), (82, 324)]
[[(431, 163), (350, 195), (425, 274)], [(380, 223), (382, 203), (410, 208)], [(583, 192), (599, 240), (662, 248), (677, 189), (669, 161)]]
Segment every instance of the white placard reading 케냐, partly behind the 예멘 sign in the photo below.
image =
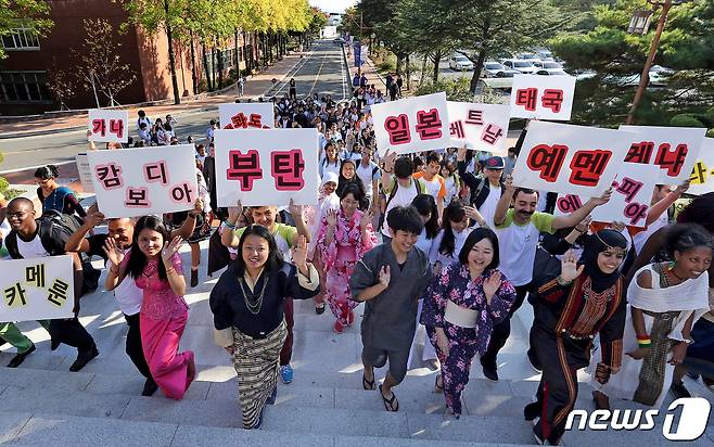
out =
[(658, 183), (680, 184), (691, 175), (706, 129), (691, 127), (620, 126), (634, 133), (625, 162), (660, 167)]

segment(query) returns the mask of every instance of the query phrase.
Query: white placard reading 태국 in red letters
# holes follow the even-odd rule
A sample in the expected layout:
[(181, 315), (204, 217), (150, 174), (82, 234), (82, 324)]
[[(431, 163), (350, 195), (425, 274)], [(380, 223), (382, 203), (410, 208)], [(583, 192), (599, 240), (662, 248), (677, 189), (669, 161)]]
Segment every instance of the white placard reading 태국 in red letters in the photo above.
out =
[(515, 75), (511, 118), (570, 120), (575, 95), (573, 76)]

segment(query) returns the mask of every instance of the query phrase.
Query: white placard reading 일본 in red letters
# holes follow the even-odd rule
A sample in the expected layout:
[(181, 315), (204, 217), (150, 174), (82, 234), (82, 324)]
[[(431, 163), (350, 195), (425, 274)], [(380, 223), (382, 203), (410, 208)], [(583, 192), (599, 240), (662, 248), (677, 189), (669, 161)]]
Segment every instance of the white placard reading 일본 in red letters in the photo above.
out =
[(446, 93), (405, 98), (372, 105), (380, 156), (444, 149), (451, 145)]

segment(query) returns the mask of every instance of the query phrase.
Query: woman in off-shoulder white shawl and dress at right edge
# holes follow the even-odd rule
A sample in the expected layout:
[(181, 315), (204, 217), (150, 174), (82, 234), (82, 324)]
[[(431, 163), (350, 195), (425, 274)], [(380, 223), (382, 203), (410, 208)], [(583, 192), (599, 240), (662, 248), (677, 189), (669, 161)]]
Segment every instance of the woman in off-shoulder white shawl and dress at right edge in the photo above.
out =
[(592, 381), (600, 408), (605, 407), (605, 396), (659, 408), (675, 367), (693, 343), (692, 325), (709, 310), (711, 235), (698, 225), (680, 225), (668, 231), (666, 248), (674, 261), (640, 268), (627, 289), (627, 355), (620, 373), (607, 384)]

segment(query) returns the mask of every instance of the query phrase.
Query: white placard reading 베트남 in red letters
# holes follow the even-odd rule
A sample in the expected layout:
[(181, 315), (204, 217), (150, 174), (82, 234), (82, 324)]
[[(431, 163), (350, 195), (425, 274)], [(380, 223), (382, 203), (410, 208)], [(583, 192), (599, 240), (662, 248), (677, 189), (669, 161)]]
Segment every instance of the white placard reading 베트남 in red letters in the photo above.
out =
[(448, 101), (447, 107), (451, 146), (507, 155), (508, 105)]

